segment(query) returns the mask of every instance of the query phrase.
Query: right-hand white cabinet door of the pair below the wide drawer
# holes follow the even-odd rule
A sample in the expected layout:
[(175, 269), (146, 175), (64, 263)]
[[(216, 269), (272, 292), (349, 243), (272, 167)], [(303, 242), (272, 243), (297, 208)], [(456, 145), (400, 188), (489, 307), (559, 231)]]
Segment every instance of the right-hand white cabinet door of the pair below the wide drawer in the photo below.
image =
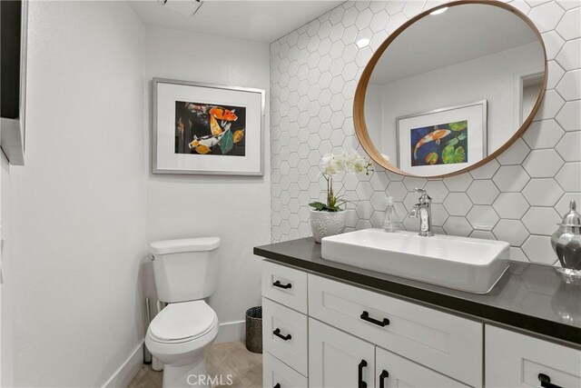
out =
[(381, 348), (375, 351), (375, 375), (376, 388), (469, 388), (468, 385)]

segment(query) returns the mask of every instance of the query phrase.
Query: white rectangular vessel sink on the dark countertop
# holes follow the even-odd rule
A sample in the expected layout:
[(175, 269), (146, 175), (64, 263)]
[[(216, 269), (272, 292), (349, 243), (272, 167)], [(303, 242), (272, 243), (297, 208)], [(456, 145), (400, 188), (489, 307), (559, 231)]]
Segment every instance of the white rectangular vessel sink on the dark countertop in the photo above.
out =
[(507, 271), (508, 248), (502, 241), (364, 229), (323, 238), (321, 256), (468, 293), (488, 293)]

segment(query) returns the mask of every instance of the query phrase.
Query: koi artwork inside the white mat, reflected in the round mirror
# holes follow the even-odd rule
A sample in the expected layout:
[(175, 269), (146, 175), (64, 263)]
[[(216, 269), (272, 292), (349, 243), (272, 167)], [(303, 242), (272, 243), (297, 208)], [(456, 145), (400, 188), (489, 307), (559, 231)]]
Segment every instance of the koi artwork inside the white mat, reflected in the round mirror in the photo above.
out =
[(412, 166), (468, 162), (468, 120), (410, 129)]

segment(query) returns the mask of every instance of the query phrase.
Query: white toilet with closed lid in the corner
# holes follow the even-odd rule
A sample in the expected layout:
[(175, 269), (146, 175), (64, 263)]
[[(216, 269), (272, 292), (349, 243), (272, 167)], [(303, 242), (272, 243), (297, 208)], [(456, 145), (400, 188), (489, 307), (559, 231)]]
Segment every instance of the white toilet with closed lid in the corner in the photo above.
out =
[(150, 245), (160, 301), (169, 303), (147, 329), (145, 345), (163, 367), (163, 387), (207, 387), (204, 351), (218, 334), (218, 317), (203, 301), (214, 292), (220, 237)]

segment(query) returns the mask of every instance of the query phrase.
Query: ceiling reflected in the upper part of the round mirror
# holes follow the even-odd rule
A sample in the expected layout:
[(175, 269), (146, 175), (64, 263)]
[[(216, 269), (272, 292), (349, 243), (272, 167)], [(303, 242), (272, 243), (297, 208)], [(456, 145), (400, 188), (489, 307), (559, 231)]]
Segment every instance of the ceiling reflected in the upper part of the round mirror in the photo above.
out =
[(386, 85), (532, 42), (538, 42), (537, 35), (503, 8), (453, 6), (423, 17), (399, 35), (379, 59), (369, 83)]

